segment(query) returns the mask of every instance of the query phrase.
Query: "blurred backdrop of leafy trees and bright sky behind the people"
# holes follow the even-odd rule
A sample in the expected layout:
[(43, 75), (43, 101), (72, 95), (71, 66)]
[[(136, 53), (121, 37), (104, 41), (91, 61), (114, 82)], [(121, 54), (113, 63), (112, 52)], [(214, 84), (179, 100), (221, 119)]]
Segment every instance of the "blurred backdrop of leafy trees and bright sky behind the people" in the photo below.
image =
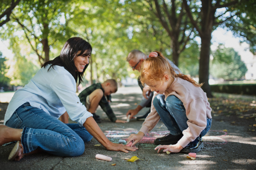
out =
[[(58, 56), (70, 37), (93, 46), (85, 88), (139, 75), (129, 51), (162, 51), (212, 97), (210, 84), (255, 84), (255, 0), (4, 0), (0, 87), (15, 91)], [(248, 81), (249, 80), (249, 81)], [(236, 81), (236, 82), (235, 82)], [(136, 82), (136, 81), (135, 81)], [(236, 92), (239, 94), (239, 92)]]

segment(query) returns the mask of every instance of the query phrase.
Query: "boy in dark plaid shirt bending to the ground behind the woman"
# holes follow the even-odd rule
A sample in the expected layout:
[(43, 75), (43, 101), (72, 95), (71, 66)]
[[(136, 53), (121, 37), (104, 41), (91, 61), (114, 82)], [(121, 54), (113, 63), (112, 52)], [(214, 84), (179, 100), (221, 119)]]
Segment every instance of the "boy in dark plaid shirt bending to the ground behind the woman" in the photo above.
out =
[[(79, 94), (79, 98), (87, 108), (87, 111), (93, 114), (93, 118), (97, 123), (101, 123), (100, 117), (95, 114), (99, 105), (112, 122), (126, 123), (125, 120), (116, 119), (116, 116), (108, 102), (108, 100), (110, 100), (109, 97), (111, 97), (110, 94), (116, 93), (116, 91), (116, 80), (108, 79), (103, 83), (95, 83), (87, 87)], [(108, 100), (106, 97), (108, 97)]]

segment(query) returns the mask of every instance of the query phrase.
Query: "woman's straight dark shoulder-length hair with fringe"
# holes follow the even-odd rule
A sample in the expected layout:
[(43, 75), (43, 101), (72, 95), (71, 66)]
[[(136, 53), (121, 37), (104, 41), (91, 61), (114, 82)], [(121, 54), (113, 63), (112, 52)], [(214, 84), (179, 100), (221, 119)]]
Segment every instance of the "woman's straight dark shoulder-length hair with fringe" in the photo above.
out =
[[(77, 54), (78, 51), (81, 51), (81, 52)], [(85, 54), (83, 54), (84, 51), (86, 51)], [(81, 82), (83, 82), (82, 77), (89, 63), (85, 65), (84, 70), (80, 73), (76, 71), (74, 58), (81, 55), (90, 56), (91, 52), (92, 52), (92, 46), (90, 45), (89, 42), (79, 37), (73, 37), (68, 39), (67, 42), (64, 44), (63, 48), (61, 49), (61, 54), (55, 59), (45, 62), (44, 65), (42, 65), (42, 68), (43, 67), (45, 68), (48, 64), (51, 64), (49, 69), (51, 67), (53, 68), (54, 65), (63, 66), (68, 72), (70, 72), (70, 74), (74, 77), (76, 82), (77, 82), (77, 79), (79, 79), (78, 83), (80, 84)]]

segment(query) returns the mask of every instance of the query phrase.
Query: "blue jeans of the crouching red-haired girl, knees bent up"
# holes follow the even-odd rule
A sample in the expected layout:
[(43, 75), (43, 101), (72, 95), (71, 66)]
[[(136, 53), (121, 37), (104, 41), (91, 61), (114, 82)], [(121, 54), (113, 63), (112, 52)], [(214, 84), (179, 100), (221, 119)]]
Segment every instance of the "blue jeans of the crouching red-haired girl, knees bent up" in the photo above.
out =
[[(172, 135), (179, 135), (183, 130), (189, 126), (186, 123), (188, 118), (183, 102), (180, 101), (175, 95), (170, 95), (164, 100), (163, 94), (158, 94), (153, 101), (154, 108), (160, 115), (164, 125), (168, 128)], [(201, 132), (201, 136), (206, 135), (212, 125), (212, 119), (206, 118), (207, 126)]]

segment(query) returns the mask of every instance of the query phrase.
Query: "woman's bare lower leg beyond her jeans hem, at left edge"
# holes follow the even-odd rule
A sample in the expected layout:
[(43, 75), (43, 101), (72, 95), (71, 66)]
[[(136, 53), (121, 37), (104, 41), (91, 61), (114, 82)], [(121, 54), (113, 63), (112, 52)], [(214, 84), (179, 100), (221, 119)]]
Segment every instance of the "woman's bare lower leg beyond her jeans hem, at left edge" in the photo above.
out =
[(0, 125), (0, 146), (5, 143), (20, 141), (22, 130), (23, 129), (14, 129), (6, 125)]

